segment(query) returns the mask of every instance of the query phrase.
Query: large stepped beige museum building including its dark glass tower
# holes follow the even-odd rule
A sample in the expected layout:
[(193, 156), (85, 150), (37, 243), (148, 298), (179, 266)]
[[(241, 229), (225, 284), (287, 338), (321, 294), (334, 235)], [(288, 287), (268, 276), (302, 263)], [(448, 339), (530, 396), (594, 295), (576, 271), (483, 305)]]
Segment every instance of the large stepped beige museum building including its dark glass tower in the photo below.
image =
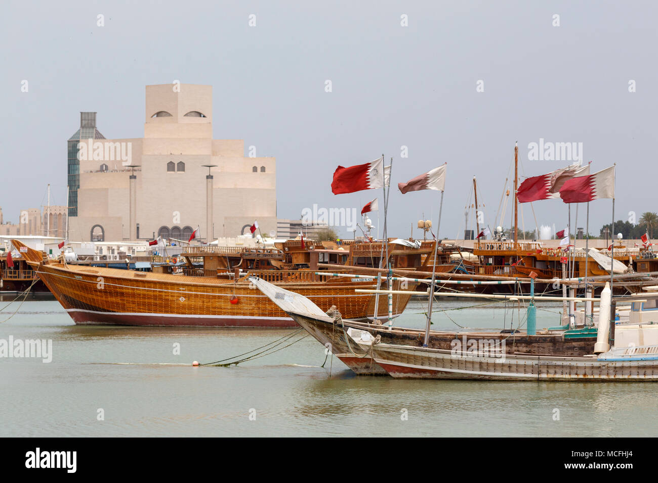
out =
[(143, 138), (105, 139), (95, 112), (82, 112), (68, 140), (70, 240), (187, 241), (199, 226), (213, 241), (255, 220), (275, 231), (275, 158), (213, 139), (212, 122), (209, 85), (147, 85)]

